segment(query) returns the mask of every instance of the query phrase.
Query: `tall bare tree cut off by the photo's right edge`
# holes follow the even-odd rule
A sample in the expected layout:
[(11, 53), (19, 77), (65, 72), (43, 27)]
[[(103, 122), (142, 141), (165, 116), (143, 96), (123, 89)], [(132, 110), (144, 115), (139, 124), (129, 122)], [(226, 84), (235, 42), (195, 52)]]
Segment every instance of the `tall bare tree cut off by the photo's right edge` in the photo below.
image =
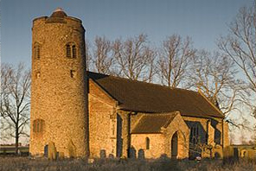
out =
[(219, 47), (246, 76), (248, 87), (256, 93), (256, 1), (241, 8), (229, 25), (229, 35), (221, 37)]

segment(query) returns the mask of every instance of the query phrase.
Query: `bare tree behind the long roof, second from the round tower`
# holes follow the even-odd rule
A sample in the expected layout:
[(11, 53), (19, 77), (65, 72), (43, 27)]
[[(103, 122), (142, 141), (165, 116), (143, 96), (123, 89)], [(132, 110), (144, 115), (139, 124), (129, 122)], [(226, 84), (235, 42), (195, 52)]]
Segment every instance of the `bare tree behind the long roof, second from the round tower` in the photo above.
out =
[(156, 73), (156, 52), (147, 45), (147, 35), (114, 41), (113, 51), (117, 62), (117, 75), (128, 79), (152, 81)]

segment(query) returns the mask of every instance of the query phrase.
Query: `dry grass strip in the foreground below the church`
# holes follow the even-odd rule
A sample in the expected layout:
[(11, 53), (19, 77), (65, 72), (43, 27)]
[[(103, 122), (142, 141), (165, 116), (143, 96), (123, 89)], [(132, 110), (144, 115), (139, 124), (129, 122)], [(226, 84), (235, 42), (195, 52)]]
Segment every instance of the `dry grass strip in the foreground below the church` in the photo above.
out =
[(255, 171), (255, 161), (223, 164), (221, 160), (170, 161), (97, 160), (88, 164), (84, 160), (48, 161), (27, 157), (0, 157), (0, 171)]

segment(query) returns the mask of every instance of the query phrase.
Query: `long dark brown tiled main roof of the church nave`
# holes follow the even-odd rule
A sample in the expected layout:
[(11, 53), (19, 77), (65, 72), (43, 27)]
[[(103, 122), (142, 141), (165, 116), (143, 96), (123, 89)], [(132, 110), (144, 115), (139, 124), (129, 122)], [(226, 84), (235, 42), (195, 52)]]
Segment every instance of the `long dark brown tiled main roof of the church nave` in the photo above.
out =
[(199, 92), (101, 73), (88, 72), (88, 76), (116, 99), (120, 109), (125, 111), (151, 113), (180, 111), (182, 116), (224, 117), (221, 111), (215, 109)]

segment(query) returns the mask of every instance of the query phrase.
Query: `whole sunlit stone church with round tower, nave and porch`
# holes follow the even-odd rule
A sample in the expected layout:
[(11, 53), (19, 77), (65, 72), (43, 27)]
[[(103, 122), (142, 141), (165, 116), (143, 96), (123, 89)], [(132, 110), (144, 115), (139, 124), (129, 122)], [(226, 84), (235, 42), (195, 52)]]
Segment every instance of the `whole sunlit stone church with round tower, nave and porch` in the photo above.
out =
[(223, 113), (202, 92), (86, 72), (85, 29), (56, 9), (32, 28), (31, 155), (222, 156)]

